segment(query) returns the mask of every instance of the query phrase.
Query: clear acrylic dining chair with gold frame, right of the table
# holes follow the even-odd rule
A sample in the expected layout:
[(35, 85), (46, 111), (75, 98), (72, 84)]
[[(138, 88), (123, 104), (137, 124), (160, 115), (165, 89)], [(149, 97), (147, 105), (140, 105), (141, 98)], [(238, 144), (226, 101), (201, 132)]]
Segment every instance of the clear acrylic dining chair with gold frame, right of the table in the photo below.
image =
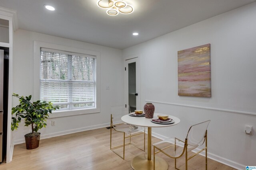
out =
[[(188, 129), (188, 133), (185, 141), (182, 141), (176, 137), (160, 141), (153, 144), (154, 146), (154, 170), (155, 170), (155, 154), (162, 152), (175, 159), (175, 169), (179, 170), (176, 166), (176, 159), (185, 154), (186, 157), (186, 170), (188, 169), (188, 160), (205, 150), (205, 168), (207, 170), (207, 127), (210, 120), (204, 121), (195, 125), (192, 125)], [(202, 146), (205, 143), (205, 147), (188, 157), (188, 152)], [(157, 149), (158, 151), (155, 151)]]

